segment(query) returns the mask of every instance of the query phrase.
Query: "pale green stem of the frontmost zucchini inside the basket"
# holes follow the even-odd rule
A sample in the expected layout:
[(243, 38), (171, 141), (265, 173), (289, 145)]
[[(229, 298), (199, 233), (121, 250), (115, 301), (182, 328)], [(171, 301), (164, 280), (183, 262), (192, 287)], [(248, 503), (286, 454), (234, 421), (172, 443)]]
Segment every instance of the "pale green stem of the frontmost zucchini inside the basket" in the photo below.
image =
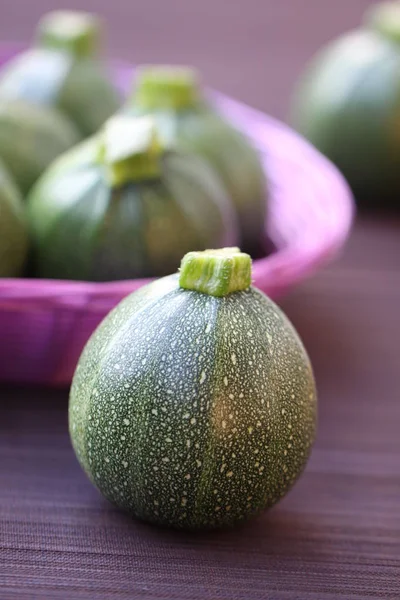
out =
[(161, 155), (150, 117), (117, 115), (107, 121), (100, 135), (99, 160), (107, 168), (112, 187), (159, 176)]

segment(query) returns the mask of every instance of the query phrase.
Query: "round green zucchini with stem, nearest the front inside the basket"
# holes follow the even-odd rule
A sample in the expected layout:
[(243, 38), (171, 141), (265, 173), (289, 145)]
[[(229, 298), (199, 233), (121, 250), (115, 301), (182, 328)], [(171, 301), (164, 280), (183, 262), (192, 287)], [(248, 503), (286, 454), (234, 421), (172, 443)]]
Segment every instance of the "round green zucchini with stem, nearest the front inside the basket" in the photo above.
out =
[(165, 275), (185, 252), (237, 239), (214, 172), (161, 144), (149, 117), (113, 117), (60, 157), (33, 188), (29, 216), (41, 277)]

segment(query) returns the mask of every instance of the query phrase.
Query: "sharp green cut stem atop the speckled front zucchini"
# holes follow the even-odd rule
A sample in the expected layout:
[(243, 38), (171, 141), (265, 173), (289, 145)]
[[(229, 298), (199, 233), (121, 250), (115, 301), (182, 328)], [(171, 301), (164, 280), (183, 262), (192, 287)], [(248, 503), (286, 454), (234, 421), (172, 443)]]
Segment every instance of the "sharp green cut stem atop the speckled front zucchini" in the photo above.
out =
[(189, 252), (181, 262), (179, 285), (221, 298), (251, 285), (251, 258), (239, 248)]

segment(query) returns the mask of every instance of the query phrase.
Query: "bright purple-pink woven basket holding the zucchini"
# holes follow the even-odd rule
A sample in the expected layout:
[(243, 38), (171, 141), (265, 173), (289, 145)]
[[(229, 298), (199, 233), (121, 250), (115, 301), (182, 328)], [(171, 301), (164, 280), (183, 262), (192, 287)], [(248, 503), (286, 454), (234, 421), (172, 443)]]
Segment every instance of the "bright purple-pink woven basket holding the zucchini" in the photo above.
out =
[[(0, 46), (0, 65), (16, 48)], [(114, 64), (122, 90), (133, 69)], [(254, 284), (276, 298), (331, 259), (351, 226), (353, 201), (336, 168), (285, 125), (221, 94), (212, 101), (252, 139), (270, 184), (265, 235), (276, 250), (254, 261)], [(110, 283), (0, 280), (0, 381), (66, 385), (90, 334), (149, 280)]]

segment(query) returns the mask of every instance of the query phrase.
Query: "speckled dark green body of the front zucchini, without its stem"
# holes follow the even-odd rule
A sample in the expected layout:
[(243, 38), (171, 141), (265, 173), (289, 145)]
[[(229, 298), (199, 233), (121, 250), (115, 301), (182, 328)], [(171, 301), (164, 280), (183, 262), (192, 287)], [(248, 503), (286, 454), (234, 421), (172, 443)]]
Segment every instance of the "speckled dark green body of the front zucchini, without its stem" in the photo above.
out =
[(302, 472), (316, 391), (300, 339), (264, 294), (216, 298), (172, 275), (93, 334), (69, 421), (111, 502), (161, 525), (223, 527), (275, 504)]

